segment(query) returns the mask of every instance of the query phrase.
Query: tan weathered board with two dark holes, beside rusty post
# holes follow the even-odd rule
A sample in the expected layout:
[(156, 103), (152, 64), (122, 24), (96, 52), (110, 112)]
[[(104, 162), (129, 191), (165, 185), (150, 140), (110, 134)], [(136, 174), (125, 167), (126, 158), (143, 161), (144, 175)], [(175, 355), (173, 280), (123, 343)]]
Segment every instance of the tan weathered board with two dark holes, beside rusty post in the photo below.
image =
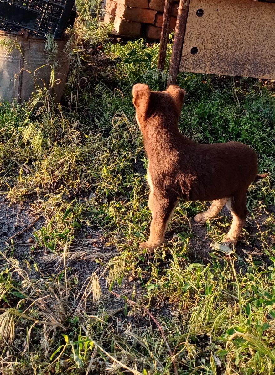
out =
[(275, 79), (275, 3), (190, 0), (179, 71)]

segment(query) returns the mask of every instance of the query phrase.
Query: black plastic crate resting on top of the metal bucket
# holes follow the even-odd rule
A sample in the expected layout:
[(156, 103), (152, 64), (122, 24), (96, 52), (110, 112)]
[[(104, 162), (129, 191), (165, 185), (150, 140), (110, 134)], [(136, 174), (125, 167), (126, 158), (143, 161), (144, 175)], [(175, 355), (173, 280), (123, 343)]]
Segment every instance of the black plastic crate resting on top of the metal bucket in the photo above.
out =
[(75, 0), (0, 0), (0, 30), (60, 38), (74, 4)]

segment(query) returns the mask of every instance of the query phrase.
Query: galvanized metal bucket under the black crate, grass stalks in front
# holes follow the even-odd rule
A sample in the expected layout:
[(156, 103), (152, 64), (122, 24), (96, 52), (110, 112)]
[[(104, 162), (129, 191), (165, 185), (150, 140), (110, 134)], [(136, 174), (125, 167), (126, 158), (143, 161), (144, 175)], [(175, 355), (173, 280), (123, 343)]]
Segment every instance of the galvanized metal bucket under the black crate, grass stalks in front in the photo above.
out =
[(60, 102), (73, 46), (68, 39), (55, 42), (57, 52), (49, 57), (45, 39), (28, 37), (26, 31), (0, 31), (0, 101), (17, 99), (21, 104), (43, 90), (55, 103)]

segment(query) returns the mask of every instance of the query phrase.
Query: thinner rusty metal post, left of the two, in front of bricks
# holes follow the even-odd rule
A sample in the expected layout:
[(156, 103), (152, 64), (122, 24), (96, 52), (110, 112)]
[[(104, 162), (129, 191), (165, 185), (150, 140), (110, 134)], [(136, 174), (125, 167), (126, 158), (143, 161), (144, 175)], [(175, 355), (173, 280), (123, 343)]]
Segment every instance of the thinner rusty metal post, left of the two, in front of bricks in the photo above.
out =
[(160, 70), (164, 70), (164, 66), (165, 66), (172, 6), (173, 6), (173, 0), (165, 0), (163, 22), (162, 22), (161, 36), (160, 36), (160, 52), (158, 54), (158, 69)]

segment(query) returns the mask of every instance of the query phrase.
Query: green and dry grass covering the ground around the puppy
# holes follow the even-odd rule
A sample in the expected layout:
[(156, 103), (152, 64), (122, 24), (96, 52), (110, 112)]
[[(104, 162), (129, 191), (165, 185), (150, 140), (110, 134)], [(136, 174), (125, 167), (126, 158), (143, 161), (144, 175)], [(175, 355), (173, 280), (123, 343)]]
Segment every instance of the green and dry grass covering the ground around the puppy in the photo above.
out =
[[(108, 27), (103, 34), (91, 18), (92, 5), (79, 4), (79, 42), (90, 43), (88, 48), (105, 42)], [(89, 81), (88, 52), (78, 44), (66, 88), (69, 108), (34, 113), (31, 104), (0, 107), (1, 192), (16, 202), (30, 199), (45, 219), (24, 261), (16, 260), (15, 242), (0, 254), (1, 370), (173, 374), (145, 306), (163, 327), (178, 374), (274, 374), (274, 213), (256, 234), (243, 231), (238, 254), (212, 249), (208, 261), (194, 260), (190, 220), (205, 203), (181, 201), (167, 246), (147, 259), (138, 250), (151, 218), (142, 169), (147, 160), (131, 89), (137, 82), (163, 89), (167, 76), (156, 71), (158, 45), (139, 40), (105, 44), (105, 50), (116, 66), (115, 90), (108, 81)], [(188, 92), (179, 123), (184, 134), (205, 143), (242, 141), (259, 154), (260, 171), (270, 176), (251, 185), (248, 219), (259, 210), (264, 214), (275, 204), (274, 93), (267, 83), (245, 78), (180, 74), (178, 83)], [(219, 240), (229, 225), (223, 216), (208, 223), (207, 238)], [(79, 228), (100, 229), (108, 254), (99, 257), (94, 245), (79, 238)], [(262, 254), (242, 253), (244, 246), (255, 248), (254, 240)], [(37, 249), (48, 254), (42, 262)], [(86, 281), (66, 261), (81, 256), (96, 258), (99, 267)], [(45, 271), (49, 260), (60, 267)], [(126, 300), (110, 307), (102, 278), (120, 294), (120, 286), (129, 285)]]

